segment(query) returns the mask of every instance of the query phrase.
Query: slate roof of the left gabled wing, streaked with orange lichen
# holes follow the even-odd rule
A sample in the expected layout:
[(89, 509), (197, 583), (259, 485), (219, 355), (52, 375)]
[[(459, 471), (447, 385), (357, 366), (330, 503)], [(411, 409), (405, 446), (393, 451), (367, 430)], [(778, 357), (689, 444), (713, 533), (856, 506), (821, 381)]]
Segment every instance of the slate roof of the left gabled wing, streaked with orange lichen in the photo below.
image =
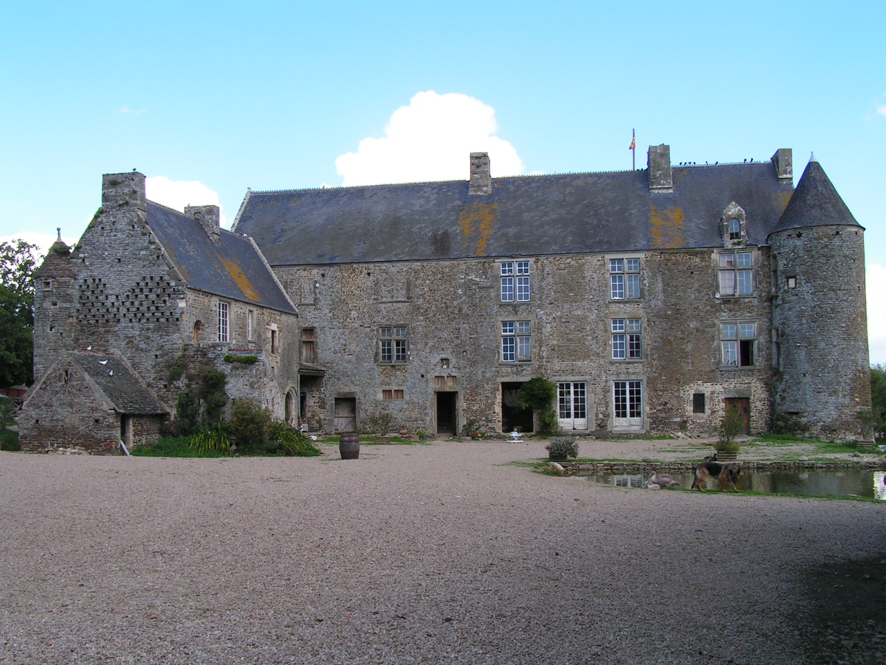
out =
[(214, 242), (198, 220), (153, 201), (148, 201), (148, 226), (191, 288), (295, 314), (248, 238), (221, 230)]

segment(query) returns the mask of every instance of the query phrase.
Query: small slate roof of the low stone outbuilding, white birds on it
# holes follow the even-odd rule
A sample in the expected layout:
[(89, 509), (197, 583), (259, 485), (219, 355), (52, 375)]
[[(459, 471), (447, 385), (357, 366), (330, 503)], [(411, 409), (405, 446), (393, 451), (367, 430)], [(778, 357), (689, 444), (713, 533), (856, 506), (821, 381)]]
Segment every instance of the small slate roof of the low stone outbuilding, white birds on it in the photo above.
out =
[[(91, 353), (69, 354), (105, 394), (118, 413), (150, 415), (167, 413), (157, 397), (144, 385), (132, 368), (120, 356)], [(105, 364), (102, 364), (102, 362)]]

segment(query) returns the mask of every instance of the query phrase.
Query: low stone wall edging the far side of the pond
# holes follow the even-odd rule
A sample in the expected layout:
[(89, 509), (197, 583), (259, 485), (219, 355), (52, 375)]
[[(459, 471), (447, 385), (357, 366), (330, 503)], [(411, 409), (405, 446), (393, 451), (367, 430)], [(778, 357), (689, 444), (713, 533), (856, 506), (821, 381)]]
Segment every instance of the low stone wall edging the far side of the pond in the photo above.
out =
[[(587, 473), (693, 473), (699, 462), (560, 462), (570, 475)], [(721, 462), (742, 471), (886, 471), (886, 459), (833, 462)]]

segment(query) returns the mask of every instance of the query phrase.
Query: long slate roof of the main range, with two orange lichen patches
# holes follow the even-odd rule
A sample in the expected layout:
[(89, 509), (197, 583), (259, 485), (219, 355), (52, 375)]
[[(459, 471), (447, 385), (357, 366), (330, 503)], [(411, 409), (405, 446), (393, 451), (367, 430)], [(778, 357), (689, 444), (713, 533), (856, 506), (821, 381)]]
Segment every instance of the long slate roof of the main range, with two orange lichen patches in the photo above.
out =
[(673, 167), (673, 192), (649, 192), (647, 171), (249, 192), (236, 231), (271, 265), (457, 259), (722, 246), (735, 201), (750, 242), (766, 236), (793, 184), (770, 162)]

